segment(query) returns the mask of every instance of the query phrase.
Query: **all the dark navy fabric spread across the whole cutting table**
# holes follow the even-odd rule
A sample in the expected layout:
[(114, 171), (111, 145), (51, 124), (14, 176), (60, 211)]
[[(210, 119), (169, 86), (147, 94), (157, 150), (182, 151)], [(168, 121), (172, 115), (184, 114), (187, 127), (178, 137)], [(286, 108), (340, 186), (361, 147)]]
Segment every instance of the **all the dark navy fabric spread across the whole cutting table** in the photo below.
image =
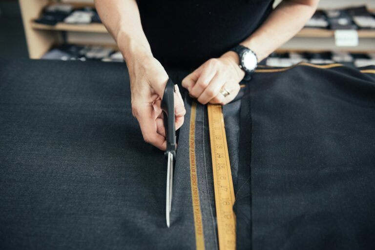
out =
[[(237, 249), (373, 248), (375, 71), (363, 70), (261, 68), (224, 106)], [(174, 82), (187, 73), (168, 71)], [(131, 115), (125, 64), (0, 60), (0, 79), (0, 249), (195, 249), (190, 98), (168, 229), (164, 153), (143, 141)], [(197, 104), (197, 183), (211, 250), (207, 120)]]

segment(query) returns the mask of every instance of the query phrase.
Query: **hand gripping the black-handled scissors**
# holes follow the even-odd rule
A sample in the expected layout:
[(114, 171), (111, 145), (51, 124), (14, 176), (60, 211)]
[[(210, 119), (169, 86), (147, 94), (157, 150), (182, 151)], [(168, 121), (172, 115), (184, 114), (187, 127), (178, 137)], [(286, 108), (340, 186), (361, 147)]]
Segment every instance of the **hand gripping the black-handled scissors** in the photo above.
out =
[[(131, 87), (131, 108), (146, 142), (165, 151), (167, 147), (163, 112), (160, 108), (168, 75), (160, 62), (151, 55), (126, 62)], [(176, 130), (184, 123), (184, 102), (175, 85), (174, 111)]]

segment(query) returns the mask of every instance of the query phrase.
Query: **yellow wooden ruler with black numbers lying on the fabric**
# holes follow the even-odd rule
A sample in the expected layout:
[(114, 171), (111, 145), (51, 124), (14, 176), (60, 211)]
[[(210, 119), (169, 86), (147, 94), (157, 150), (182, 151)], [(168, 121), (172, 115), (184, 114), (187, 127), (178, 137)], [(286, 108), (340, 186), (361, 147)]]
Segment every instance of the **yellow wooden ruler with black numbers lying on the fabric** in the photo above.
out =
[(223, 109), (221, 105), (217, 104), (208, 104), (207, 109), (219, 249), (235, 250), (236, 218), (233, 212), (234, 190)]

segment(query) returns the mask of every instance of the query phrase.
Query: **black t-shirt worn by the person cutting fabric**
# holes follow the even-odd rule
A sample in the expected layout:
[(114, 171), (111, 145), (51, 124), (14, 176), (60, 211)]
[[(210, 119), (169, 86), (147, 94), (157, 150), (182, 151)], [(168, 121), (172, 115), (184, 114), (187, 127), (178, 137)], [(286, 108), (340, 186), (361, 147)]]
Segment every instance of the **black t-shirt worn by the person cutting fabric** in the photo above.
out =
[(152, 53), (164, 66), (197, 67), (246, 39), (273, 0), (138, 0)]

